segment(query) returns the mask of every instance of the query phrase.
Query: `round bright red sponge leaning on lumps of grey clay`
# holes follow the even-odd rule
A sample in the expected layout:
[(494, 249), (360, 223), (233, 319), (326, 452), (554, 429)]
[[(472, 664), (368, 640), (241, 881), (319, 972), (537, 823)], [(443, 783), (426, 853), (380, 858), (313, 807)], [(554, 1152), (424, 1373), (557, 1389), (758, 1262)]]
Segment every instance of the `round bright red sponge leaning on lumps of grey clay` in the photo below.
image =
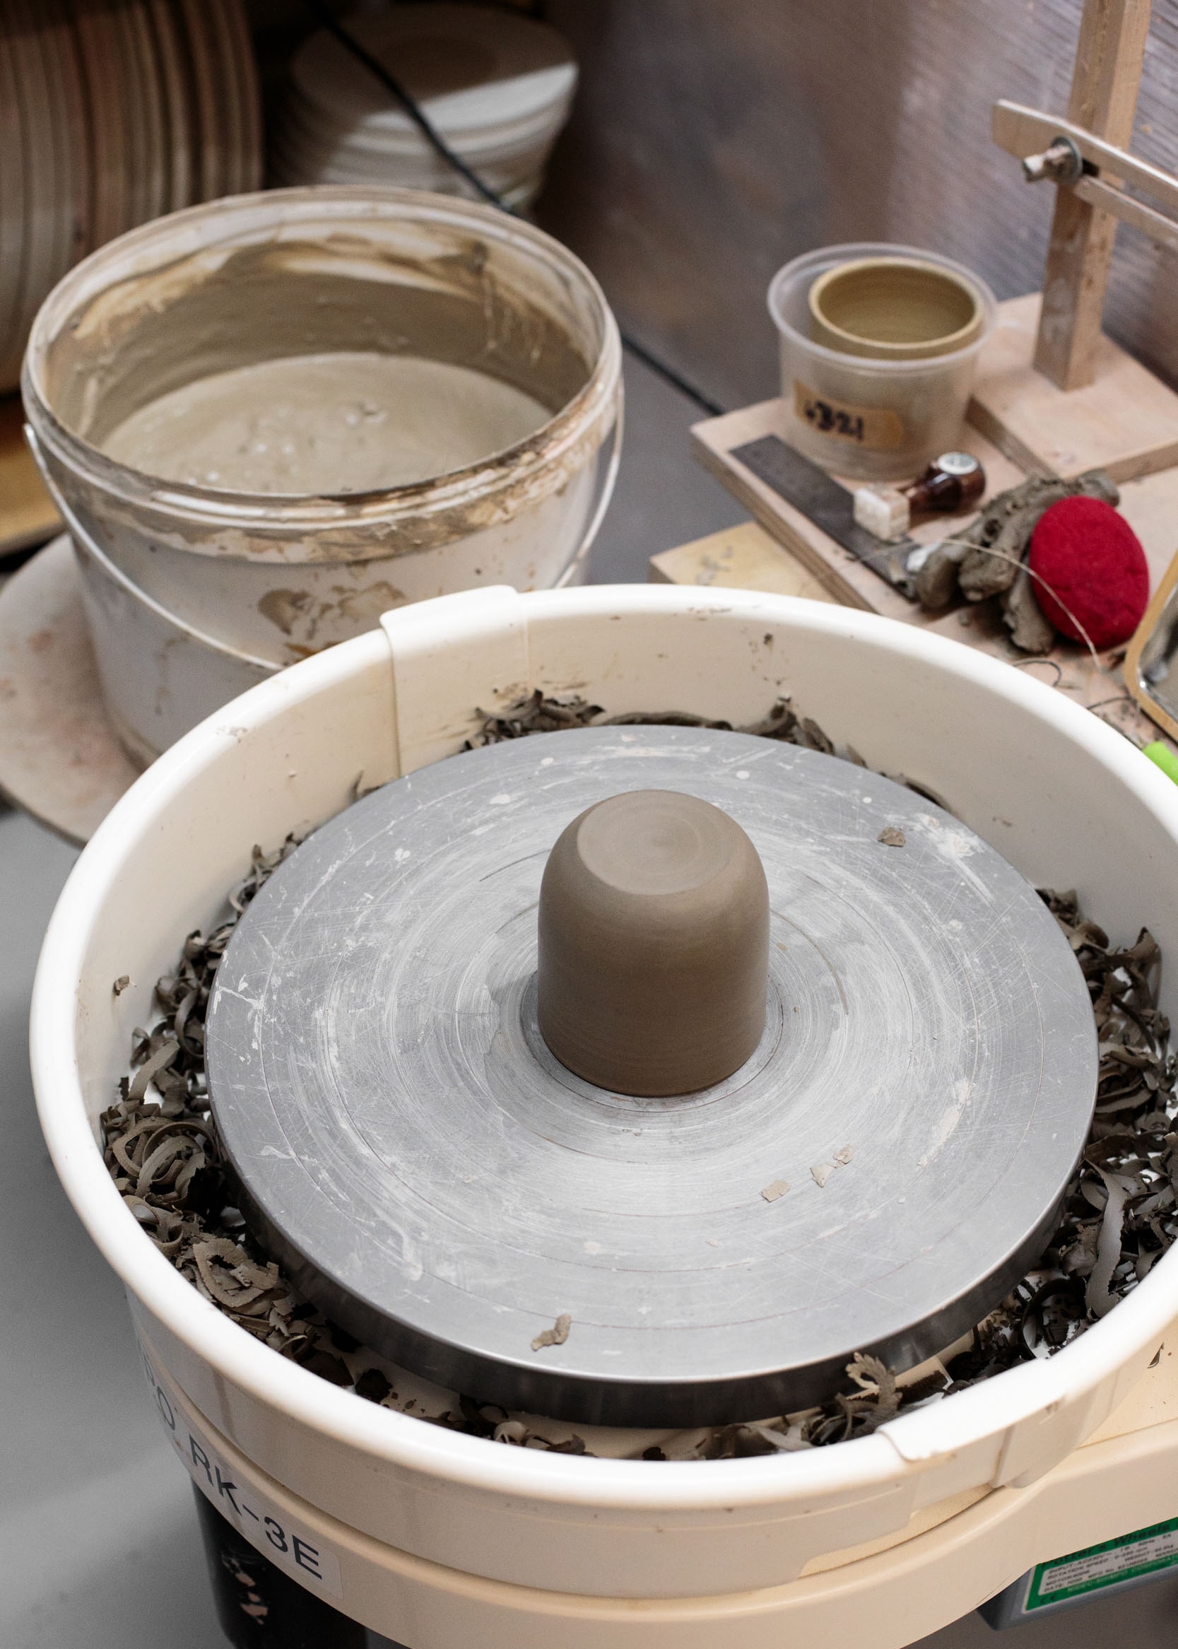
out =
[[(1035, 599), (1061, 635), (1097, 650), (1127, 641), (1150, 600), (1150, 569), (1129, 521), (1099, 498), (1061, 498), (1040, 516), (1028, 556)], [(1056, 597), (1053, 600), (1051, 597)]]

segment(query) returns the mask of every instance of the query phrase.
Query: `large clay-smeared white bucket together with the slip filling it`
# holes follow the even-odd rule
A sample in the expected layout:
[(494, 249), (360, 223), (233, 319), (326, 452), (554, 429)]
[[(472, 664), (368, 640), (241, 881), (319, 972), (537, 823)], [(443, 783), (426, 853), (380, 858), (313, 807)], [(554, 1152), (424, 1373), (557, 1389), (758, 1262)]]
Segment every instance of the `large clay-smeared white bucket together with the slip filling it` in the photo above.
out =
[[(585, 265), (414, 190), (245, 195), (112, 241), (46, 298), (23, 389), (142, 762), (242, 673), (390, 607), (578, 582), (621, 437), (618, 328)], [(208, 655), (193, 716), (178, 637)], [(133, 651), (153, 663), (130, 683)]]

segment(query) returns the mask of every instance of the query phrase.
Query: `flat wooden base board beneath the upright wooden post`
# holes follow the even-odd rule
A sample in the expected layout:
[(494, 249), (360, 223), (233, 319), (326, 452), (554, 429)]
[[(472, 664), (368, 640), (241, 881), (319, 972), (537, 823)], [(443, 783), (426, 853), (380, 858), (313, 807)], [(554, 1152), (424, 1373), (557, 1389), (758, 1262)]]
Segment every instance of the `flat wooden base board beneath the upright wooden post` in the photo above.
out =
[(1127, 482), (1178, 463), (1178, 394), (1101, 336), (1094, 379), (1058, 389), (1035, 369), (1040, 294), (998, 305), (969, 420), (1028, 475), (1104, 468)]

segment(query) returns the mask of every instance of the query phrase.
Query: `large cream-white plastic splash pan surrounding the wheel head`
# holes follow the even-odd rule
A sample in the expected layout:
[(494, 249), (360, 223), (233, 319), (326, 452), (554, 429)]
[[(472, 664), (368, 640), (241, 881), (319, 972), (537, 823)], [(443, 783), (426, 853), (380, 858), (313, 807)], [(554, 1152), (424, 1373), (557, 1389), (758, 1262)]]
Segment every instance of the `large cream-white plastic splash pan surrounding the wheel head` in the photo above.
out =
[[(1102, 1425), (1178, 1316), (1178, 1253), (1056, 1357), (870, 1438), (736, 1461), (582, 1459), (423, 1425), (267, 1351), (155, 1250), (102, 1164), (96, 1116), (127, 1069), (132, 1026), (150, 1014), (152, 981), (185, 933), (214, 917), (250, 846), (330, 818), (358, 778), (381, 783), (456, 750), (473, 706), (504, 706), (526, 684), (583, 693), (610, 712), (677, 707), (738, 724), (789, 693), (873, 767), (944, 795), (1031, 881), (1077, 887), (1114, 935), (1132, 940), (1148, 923), (1178, 956), (1178, 787), (1017, 669), (914, 627), (779, 595), (641, 585), (450, 595), (236, 699), (99, 828), (49, 925), (33, 1001), (33, 1075), (58, 1172), (127, 1285), (160, 1382), (259, 1494), (336, 1530), (346, 1573), (362, 1571), (338, 1606), (367, 1624), (414, 1649), (539, 1649), (557, 1626), (570, 1649), (755, 1649), (783, 1641), (791, 1596), (819, 1596), (832, 1578), (812, 1573), (824, 1555), (900, 1539), (852, 1565), (852, 1590), (867, 1606), (872, 1585), (888, 1581), (890, 1619), (873, 1639), (908, 1642), (906, 1621), (919, 1636), (951, 1613), (937, 1616), (928, 1578), (926, 1604), (905, 1613), (905, 1563), (919, 1545), (909, 1540), (906, 1558), (906, 1534), (951, 1519), (939, 1534), (956, 1550), (987, 1506), (993, 1520), (1012, 1486), (1035, 1484)], [(115, 998), (124, 973), (133, 983)], [(1171, 1014), (1176, 975), (1163, 981)], [(1058, 1550), (1074, 1548), (1071, 1532)], [(1038, 1555), (1054, 1555), (1043, 1539)], [(1005, 1578), (1030, 1557), (1025, 1543), (1012, 1548)], [(944, 1608), (961, 1613), (985, 1595), (954, 1593)], [(804, 1618), (812, 1644), (848, 1628), (844, 1611), (812, 1636), (816, 1616)]]

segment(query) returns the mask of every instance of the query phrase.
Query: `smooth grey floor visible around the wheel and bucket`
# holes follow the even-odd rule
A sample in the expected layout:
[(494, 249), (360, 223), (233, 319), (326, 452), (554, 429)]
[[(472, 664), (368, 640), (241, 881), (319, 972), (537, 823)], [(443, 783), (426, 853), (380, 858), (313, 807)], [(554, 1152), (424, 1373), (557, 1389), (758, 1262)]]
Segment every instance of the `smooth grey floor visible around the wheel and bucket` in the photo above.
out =
[[(743, 518), (687, 455), (694, 407), (629, 364), (628, 396), (598, 582), (643, 580), (647, 556)], [(0, 811), (0, 1649), (222, 1649), (189, 1482), (157, 1428), (122, 1290), (58, 1187), (33, 1110), (28, 999), (72, 861), (48, 831)], [(1176, 1639), (1168, 1580), (1018, 1628), (1013, 1644)], [(992, 1642), (969, 1616), (924, 1649)]]

